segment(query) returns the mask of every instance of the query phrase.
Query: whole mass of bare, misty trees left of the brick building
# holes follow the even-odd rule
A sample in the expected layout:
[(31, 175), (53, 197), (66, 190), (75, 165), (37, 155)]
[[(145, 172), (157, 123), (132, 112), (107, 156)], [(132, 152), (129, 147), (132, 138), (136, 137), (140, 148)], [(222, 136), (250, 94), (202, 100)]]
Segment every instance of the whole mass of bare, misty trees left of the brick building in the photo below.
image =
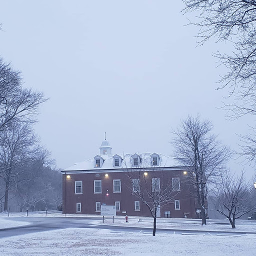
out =
[[(20, 71), (0, 58), (0, 211), (61, 204), (61, 174), (33, 131), (47, 98), (22, 86)], [(13, 210), (12, 209), (12, 210)]]

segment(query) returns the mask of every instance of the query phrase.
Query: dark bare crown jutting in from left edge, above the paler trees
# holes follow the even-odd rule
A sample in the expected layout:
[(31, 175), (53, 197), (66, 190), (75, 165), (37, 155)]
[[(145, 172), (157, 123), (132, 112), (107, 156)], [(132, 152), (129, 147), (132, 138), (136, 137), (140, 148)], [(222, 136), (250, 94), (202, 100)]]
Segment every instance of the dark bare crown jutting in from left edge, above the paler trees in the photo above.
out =
[(33, 122), (38, 106), (46, 100), (42, 92), (22, 88), (20, 71), (0, 58), (0, 131), (16, 121)]

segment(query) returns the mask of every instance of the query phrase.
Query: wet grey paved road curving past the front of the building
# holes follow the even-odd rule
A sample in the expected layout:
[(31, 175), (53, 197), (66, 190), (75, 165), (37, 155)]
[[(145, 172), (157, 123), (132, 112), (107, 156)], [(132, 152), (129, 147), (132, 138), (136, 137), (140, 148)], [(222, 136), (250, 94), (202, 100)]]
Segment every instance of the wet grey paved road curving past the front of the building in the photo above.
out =
[[(148, 227), (125, 227), (111, 226), (106, 224), (95, 224), (93, 220), (98, 217), (13, 217), (13, 220), (29, 221), (31, 224), (26, 226), (11, 227), (0, 229), (0, 238), (9, 237), (32, 232), (49, 231), (68, 227), (76, 228), (102, 228), (109, 229), (110, 232), (139, 232), (151, 234), (152, 228)], [(197, 230), (178, 230), (178, 229), (158, 229), (157, 233), (162, 234), (198, 234), (198, 235), (244, 235), (246, 232), (220, 232), (220, 231), (197, 231)]]

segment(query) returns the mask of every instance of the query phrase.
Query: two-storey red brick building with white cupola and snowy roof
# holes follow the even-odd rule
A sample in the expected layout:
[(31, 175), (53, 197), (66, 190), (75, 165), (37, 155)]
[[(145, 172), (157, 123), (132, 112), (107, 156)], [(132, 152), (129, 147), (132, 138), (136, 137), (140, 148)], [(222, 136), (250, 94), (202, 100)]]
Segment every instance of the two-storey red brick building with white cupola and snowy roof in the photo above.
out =
[[(116, 215), (151, 216), (136, 196), (134, 184), (171, 184), (173, 200), (157, 208), (158, 217), (199, 217), (188, 171), (160, 153), (112, 154), (107, 140), (93, 158), (62, 170), (63, 213), (100, 214), (101, 205), (115, 205)], [(141, 189), (144, 189), (141, 185)], [(156, 190), (158, 191), (158, 190)]]

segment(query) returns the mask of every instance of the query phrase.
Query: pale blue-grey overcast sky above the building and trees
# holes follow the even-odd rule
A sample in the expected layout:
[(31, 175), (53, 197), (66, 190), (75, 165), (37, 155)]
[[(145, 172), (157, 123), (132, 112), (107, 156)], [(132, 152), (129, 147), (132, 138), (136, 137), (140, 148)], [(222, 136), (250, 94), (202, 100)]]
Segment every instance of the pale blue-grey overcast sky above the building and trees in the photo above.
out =
[[(251, 116), (226, 120), (216, 81), (217, 50), (197, 46), (181, 0), (12, 0), (0, 7), (0, 55), (22, 71), (24, 86), (43, 91), (35, 126), (65, 168), (99, 153), (172, 154), (171, 129), (200, 113), (223, 143), (237, 147)], [(190, 17), (193, 17), (190, 14)], [(250, 122), (250, 124), (252, 124)], [(232, 169), (253, 168), (231, 161)]]

